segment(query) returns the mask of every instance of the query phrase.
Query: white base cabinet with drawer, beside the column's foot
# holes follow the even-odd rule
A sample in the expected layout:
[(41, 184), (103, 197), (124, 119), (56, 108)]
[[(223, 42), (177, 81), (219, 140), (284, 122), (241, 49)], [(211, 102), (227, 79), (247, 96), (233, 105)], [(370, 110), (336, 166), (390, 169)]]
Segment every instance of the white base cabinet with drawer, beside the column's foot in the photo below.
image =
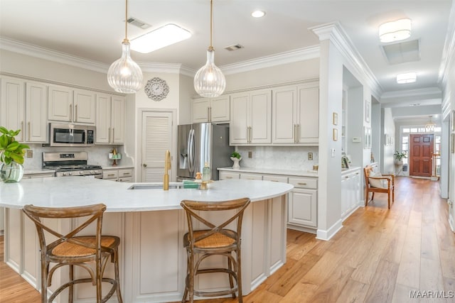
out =
[(289, 177), (294, 189), (289, 193), (288, 227), (317, 227), (317, 180), (307, 177)]

